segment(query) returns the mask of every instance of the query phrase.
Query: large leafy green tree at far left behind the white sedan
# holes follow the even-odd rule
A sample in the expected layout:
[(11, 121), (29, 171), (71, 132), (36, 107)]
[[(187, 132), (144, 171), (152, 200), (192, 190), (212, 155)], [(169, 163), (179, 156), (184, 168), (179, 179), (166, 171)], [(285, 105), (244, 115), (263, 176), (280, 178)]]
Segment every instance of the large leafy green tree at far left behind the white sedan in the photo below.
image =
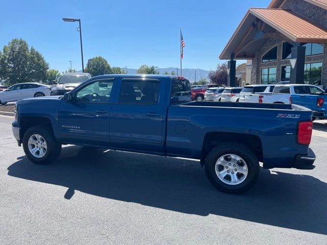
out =
[(35, 50), (29, 49), (23, 39), (14, 38), (3, 48), (0, 56), (0, 77), (8, 85), (19, 82), (39, 82), (46, 80), (49, 64)]

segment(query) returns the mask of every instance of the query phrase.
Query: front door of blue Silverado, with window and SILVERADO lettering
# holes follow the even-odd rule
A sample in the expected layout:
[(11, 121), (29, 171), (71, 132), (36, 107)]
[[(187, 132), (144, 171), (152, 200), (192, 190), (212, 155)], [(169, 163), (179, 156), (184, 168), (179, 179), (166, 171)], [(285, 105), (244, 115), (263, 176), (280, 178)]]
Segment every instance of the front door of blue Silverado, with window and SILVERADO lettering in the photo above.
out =
[(113, 79), (94, 80), (77, 91), (75, 102), (60, 104), (59, 131), (64, 142), (109, 145), (113, 90)]

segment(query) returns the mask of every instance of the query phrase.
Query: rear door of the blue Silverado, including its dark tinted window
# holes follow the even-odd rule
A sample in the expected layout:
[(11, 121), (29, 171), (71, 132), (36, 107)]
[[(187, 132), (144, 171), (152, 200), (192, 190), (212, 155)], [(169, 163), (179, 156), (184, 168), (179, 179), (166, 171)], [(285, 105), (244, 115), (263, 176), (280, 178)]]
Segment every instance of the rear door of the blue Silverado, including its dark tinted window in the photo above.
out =
[(159, 94), (165, 92), (163, 86), (158, 79), (122, 80), (118, 104), (110, 113), (113, 148), (164, 152), (164, 94)]

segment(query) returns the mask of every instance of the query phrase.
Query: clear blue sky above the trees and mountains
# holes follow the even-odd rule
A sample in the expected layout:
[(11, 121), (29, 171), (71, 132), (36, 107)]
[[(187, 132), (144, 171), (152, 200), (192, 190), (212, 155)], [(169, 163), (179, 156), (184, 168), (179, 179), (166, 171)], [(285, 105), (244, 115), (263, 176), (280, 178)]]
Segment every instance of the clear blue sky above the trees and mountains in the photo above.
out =
[(184, 68), (214, 69), (224, 45), (249, 7), (270, 0), (183, 1), (3, 1), (0, 47), (23, 38), (51, 68), (81, 69), (78, 22), (81, 18), (84, 64), (103, 56), (111, 66), (179, 66), (179, 28), (185, 41)]

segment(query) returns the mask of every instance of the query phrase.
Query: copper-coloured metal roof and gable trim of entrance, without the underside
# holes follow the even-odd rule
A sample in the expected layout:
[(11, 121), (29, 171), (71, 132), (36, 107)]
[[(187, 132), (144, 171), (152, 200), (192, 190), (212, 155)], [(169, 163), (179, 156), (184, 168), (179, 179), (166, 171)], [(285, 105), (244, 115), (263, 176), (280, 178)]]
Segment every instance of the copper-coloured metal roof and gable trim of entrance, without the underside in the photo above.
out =
[[(220, 59), (230, 59), (232, 53), (240, 50), (239, 45), (256, 18), (294, 42), (327, 43), (327, 30), (324, 27), (290, 10), (250, 8), (220, 54)], [(235, 55), (238, 58), (237, 54)]]

